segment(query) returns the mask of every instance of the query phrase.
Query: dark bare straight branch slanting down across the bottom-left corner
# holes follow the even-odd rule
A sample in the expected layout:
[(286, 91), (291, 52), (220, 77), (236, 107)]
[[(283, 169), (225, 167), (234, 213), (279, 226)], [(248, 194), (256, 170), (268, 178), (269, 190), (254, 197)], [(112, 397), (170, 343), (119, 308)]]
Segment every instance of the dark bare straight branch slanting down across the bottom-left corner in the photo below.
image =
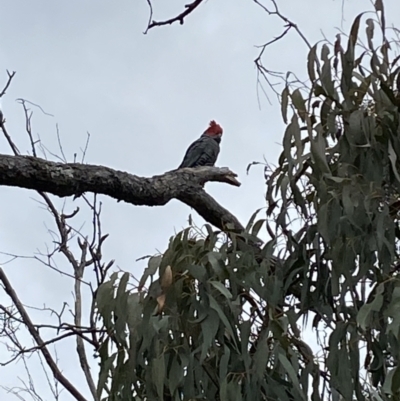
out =
[(69, 393), (78, 401), (87, 401), (86, 398), (73, 386), (73, 384), (61, 373), (60, 369), (58, 368), (56, 362), (54, 361), (53, 357), (51, 356), (49, 350), (47, 349), (46, 345), (42, 337), (40, 336), (39, 332), (35, 329), (34, 324), (32, 323), (28, 313), (26, 312), (24, 306), (22, 305), (21, 301), (19, 300), (14, 288), (11, 286), (10, 281), (8, 280), (6, 274), (4, 273), (3, 269), (0, 268), (0, 281), (4, 285), (4, 290), (6, 291), (7, 295), (12, 299), (15, 307), (18, 309), (24, 324), (26, 325), (29, 333), (35, 340), (36, 344), (39, 346), (40, 351), (47, 362), (47, 365), (51, 369), (54, 377), (58, 380), (64, 388), (69, 391)]

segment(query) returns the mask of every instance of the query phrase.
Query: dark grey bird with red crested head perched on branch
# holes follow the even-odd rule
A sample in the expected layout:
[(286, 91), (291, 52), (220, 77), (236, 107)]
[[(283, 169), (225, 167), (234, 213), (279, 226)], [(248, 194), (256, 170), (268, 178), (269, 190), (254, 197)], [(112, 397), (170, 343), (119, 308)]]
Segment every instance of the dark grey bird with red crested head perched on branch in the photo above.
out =
[(187, 149), (182, 163), (178, 167), (214, 166), (219, 154), (223, 129), (214, 120), (199, 139), (194, 141)]

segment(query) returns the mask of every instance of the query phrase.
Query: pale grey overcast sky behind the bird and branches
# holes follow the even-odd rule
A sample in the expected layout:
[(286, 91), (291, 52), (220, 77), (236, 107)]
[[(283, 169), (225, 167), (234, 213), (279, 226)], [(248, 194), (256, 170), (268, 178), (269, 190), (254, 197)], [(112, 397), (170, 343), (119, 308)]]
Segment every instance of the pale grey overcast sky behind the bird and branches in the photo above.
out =
[[(185, 3), (154, 0), (154, 19), (174, 16)], [(367, 0), (278, 3), (312, 44), (322, 39), (321, 30), (333, 41), (338, 27), (348, 32), (359, 12), (372, 10)], [(385, 6), (388, 23), (392, 23), (391, 17), (400, 15), (400, 2), (386, 0)], [(86, 132), (90, 132), (87, 163), (143, 176), (177, 167), (187, 146), (215, 119), (224, 128), (217, 164), (237, 172), (242, 186), (213, 183), (207, 190), (244, 224), (257, 208), (265, 206), (262, 168), (256, 166), (249, 175), (245, 170), (248, 163), (263, 157), (276, 162), (284, 125), (276, 98), (269, 92), (272, 105), (262, 93), (258, 99), (253, 60), (258, 54), (255, 45), (283, 31), (280, 20), (251, 0), (208, 0), (183, 26), (155, 28), (143, 35), (149, 17), (146, 0), (0, 0), (0, 9), (0, 86), (6, 69), (17, 71), (1, 107), (22, 152), (29, 151), (29, 143), (17, 98), (39, 104), (54, 115), (48, 117), (32, 108), (33, 131), (52, 152), (59, 153), (58, 123), (69, 161), (74, 153), (80, 154)], [(306, 55), (305, 44), (293, 31), (269, 48), (264, 62), (272, 70), (304, 76)], [(0, 153), (10, 153), (1, 137)], [(29, 256), (45, 251), (46, 244), (51, 247), (48, 228), (54, 230), (54, 223), (35, 202), (38, 199), (30, 191), (0, 189), (0, 251)], [(149, 208), (101, 200), (103, 231), (110, 233), (105, 258), (116, 259), (121, 269), (136, 276), (145, 262), (135, 260), (163, 251), (170, 236), (187, 226), (190, 213), (198, 225), (203, 223), (177, 201)], [(56, 203), (63, 201), (56, 199)], [(68, 200), (66, 211), (76, 204), (83, 205)], [(76, 227), (86, 221), (83, 230), (89, 230), (90, 219), (83, 208)], [(70, 279), (32, 260), (8, 260), (0, 255), (0, 264), (25, 304), (60, 310), (67, 301), (73, 306)], [(61, 270), (70, 271), (61, 258), (57, 260)], [(3, 292), (0, 303), (9, 304)], [(50, 313), (29, 312), (36, 322), (54, 322)], [(24, 339), (26, 346), (32, 345)], [(59, 364), (89, 395), (74, 350), (72, 342), (58, 345)], [(2, 344), (0, 358), (0, 362), (7, 358)], [(53, 399), (37, 359), (29, 363), (36, 389), (44, 399)], [(0, 385), (21, 386), (18, 377), (26, 378), (22, 363), (0, 367)], [(0, 400), (12, 399), (16, 398), (0, 389)], [(64, 392), (60, 399), (71, 397)]]

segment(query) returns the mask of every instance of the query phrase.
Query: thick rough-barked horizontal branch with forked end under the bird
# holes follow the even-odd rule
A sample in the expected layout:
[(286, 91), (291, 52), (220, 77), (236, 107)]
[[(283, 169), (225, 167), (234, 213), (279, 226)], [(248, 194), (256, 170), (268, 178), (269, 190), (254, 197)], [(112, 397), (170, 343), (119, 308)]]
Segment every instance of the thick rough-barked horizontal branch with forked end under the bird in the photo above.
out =
[(0, 185), (59, 197), (93, 192), (133, 205), (162, 206), (178, 199), (222, 230), (243, 230), (236, 217), (204, 191), (204, 184), (209, 181), (240, 186), (236, 174), (225, 167), (184, 168), (145, 178), (104, 166), (0, 154)]

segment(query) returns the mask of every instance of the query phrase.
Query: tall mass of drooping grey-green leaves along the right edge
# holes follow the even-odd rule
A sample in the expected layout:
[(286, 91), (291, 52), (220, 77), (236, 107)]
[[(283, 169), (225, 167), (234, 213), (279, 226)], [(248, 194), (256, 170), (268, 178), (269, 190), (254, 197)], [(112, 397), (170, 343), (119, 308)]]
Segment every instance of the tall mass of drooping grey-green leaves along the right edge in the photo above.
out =
[[(367, 47), (356, 46), (360, 14), (346, 50), (339, 35), (332, 56), (327, 44), (320, 59), (317, 46), (310, 50), (310, 89), (285, 87), (283, 118), (289, 104), (293, 118), (279, 166), (267, 169), (268, 217), (285, 238), (284, 266), (296, 265), (298, 307), (314, 312), (313, 327), (329, 327), (329, 387), (345, 400), (368, 399), (372, 388), (381, 399), (398, 397), (400, 389), (400, 67), (399, 57), (390, 59), (399, 42), (386, 38), (382, 2), (375, 7)], [(299, 223), (289, 224), (290, 216)]]

